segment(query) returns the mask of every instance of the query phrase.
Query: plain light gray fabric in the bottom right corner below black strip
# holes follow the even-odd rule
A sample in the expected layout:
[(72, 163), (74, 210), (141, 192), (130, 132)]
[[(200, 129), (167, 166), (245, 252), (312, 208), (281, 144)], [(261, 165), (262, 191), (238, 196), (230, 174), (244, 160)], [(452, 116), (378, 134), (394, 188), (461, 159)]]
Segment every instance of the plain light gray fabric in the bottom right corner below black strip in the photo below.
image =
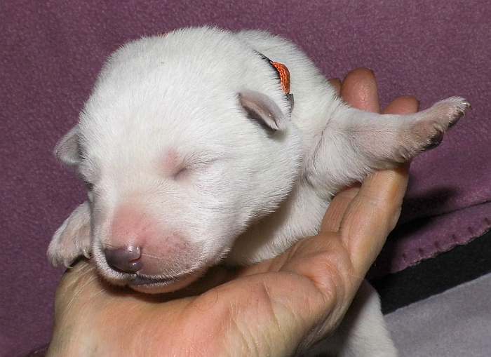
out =
[(400, 357), (491, 356), (491, 274), (386, 316)]

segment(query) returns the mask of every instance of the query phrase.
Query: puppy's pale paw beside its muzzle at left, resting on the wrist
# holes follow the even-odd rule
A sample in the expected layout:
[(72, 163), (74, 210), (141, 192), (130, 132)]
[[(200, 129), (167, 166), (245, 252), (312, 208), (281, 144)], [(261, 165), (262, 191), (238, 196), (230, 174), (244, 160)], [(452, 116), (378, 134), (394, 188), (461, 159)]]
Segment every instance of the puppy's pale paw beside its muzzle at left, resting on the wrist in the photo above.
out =
[(81, 255), (90, 257), (90, 208), (82, 203), (58, 228), (48, 246), (48, 259), (53, 266), (69, 267)]

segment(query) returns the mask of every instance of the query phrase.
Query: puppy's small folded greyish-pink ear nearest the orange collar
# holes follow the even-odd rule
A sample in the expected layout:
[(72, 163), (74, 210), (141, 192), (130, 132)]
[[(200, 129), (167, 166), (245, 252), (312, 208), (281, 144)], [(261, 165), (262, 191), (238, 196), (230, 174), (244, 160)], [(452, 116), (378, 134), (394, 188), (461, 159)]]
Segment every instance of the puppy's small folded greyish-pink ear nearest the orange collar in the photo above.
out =
[(255, 90), (243, 90), (238, 93), (241, 106), (249, 116), (260, 123), (264, 123), (272, 130), (284, 130), (288, 123), (288, 116), (281, 112), (280, 107), (267, 95)]

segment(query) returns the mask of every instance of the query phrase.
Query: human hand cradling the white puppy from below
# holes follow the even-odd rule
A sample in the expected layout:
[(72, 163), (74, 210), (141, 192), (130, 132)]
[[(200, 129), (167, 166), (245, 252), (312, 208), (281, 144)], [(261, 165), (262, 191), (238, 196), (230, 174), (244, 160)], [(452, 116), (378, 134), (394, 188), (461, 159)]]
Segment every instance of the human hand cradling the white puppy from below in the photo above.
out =
[[(331, 83), (350, 105), (379, 111), (372, 72)], [(401, 97), (385, 112), (416, 110)], [(48, 356), (291, 355), (342, 320), (398, 220), (407, 180), (407, 168), (375, 173), (333, 199), (317, 236), (251, 267), (210, 269), (175, 294), (114, 288), (79, 262), (56, 294)]]

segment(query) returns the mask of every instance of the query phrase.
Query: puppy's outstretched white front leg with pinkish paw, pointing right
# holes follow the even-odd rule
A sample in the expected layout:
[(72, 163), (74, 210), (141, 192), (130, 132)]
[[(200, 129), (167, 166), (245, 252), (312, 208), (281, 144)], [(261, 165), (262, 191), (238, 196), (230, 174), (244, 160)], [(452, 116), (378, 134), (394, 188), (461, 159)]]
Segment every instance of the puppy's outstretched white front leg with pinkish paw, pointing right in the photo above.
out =
[(335, 194), (373, 170), (394, 168), (436, 147), (470, 107), (450, 97), (409, 115), (375, 114), (340, 105), (307, 161), (305, 176), (319, 191)]

